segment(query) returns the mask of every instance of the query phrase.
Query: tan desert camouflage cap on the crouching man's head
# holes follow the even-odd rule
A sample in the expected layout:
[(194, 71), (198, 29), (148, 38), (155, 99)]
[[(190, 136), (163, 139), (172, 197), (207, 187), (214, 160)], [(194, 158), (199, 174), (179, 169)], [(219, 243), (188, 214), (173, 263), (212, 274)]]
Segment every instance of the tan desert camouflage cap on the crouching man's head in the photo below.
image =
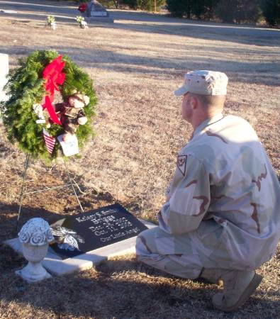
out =
[(184, 85), (174, 91), (176, 96), (188, 92), (201, 95), (227, 94), (228, 77), (223, 72), (193, 71), (185, 74)]

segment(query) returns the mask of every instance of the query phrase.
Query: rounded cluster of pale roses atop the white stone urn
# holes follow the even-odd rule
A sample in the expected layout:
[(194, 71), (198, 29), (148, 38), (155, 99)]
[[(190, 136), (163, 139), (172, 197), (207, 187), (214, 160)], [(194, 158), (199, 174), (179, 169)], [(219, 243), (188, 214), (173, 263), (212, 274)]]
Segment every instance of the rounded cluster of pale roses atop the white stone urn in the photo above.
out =
[(50, 225), (43, 218), (28, 220), (18, 233), (18, 238), (21, 242), (34, 246), (43, 246), (54, 240)]

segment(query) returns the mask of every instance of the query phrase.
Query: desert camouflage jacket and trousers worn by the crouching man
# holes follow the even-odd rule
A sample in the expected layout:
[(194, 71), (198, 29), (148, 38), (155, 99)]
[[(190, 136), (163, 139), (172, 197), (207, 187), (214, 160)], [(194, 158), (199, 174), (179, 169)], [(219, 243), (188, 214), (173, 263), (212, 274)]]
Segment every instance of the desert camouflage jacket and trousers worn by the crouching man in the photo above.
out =
[(214, 116), (182, 148), (159, 227), (138, 235), (138, 258), (194, 279), (204, 268), (252, 270), (280, 237), (280, 186), (247, 121)]

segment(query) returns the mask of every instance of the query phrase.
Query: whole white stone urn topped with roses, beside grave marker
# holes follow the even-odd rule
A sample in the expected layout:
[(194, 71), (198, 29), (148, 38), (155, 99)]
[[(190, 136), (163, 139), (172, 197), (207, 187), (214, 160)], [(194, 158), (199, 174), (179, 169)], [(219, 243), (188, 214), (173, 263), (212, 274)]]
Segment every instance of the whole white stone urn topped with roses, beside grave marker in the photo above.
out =
[(16, 274), (29, 283), (50, 278), (51, 275), (41, 264), (47, 254), (49, 242), (54, 240), (50, 225), (43, 218), (31, 218), (18, 233), (18, 240), (23, 245), (23, 256), (28, 264), (17, 270)]

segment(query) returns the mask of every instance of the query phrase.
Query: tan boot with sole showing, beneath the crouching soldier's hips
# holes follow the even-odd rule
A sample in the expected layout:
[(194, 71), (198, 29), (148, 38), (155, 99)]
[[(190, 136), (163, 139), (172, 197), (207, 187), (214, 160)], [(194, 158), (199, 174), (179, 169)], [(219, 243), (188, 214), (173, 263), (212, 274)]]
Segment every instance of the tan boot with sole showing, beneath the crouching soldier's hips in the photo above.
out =
[(237, 270), (222, 271), (223, 293), (216, 293), (213, 298), (215, 308), (230, 312), (245, 303), (262, 281), (262, 276), (255, 272)]

